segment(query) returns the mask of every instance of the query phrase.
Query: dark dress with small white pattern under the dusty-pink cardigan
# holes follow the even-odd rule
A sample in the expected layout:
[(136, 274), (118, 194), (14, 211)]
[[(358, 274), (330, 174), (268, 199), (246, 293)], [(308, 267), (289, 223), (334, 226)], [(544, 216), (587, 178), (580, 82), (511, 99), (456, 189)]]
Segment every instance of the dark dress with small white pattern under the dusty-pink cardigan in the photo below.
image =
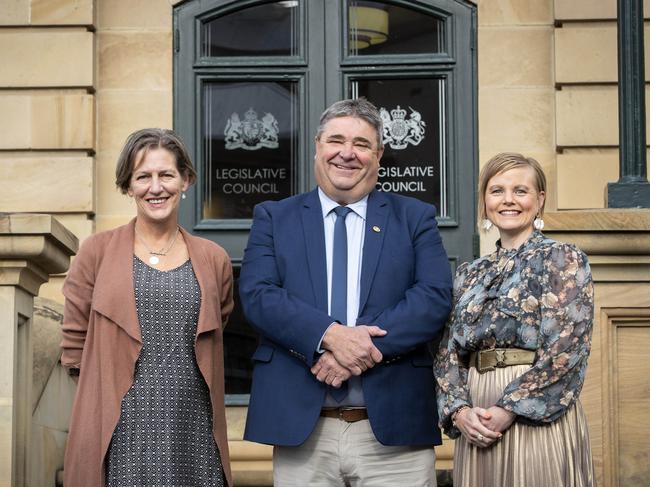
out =
[(143, 347), (108, 450), (108, 487), (222, 487), (212, 405), (194, 354), (201, 289), (192, 263), (133, 258)]

